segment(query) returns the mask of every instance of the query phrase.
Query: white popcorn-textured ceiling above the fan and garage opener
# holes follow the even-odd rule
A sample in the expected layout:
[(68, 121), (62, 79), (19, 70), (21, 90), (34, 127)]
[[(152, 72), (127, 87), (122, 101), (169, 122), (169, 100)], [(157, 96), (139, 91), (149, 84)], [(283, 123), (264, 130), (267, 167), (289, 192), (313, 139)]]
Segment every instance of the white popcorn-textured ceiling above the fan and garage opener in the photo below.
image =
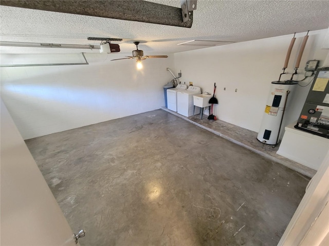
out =
[[(150, 2), (180, 7), (179, 0)], [(131, 22), (102, 17), (0, 7), (0, 39), (12, 42), (92, 44), (92, 37), (123, 38), (121, 53), (131, 53), (134, 40), (144, 54), (176, 53), (204, 48), (177, 44), (193, 39), (243, 42), (320, 30), (329, 26), (329, 1), (198, 0), (192, 28)], [(79, 53), (98, 50), (0, 47), (2, 53)]]

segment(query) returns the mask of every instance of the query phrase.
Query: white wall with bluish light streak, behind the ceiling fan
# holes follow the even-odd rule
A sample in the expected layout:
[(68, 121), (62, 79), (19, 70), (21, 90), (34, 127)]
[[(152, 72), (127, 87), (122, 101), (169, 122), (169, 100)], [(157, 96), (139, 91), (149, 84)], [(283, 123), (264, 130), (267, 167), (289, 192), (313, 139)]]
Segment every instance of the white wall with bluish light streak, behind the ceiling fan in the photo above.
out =
[[(110, 61), (127, 54), (85, 54), (89, 65), (1, 69), (1, 97), (24, 139), (147, 112), (165, 105), (162, 86), (173, 55)], [(47, 63), (50, 55), (2, 55), (2, 64)], [(60, 56), (60, 55), (58, 55)], [(38, 59), (35, 60), (35, 57)], [(62, 60), (74, 60), (68, 54)]]

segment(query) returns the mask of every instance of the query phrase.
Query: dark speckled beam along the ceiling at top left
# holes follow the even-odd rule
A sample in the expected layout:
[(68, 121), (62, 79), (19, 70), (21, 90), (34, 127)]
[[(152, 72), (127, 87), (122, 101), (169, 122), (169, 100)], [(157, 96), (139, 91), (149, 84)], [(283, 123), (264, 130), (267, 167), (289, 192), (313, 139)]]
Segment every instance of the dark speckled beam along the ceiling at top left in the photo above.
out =
[(193, 11), (190, 20), (183, 22), (181, 8), (142, 0), (1, 0), (0, 5), (176, 27), (191, 28), (193, 23)]

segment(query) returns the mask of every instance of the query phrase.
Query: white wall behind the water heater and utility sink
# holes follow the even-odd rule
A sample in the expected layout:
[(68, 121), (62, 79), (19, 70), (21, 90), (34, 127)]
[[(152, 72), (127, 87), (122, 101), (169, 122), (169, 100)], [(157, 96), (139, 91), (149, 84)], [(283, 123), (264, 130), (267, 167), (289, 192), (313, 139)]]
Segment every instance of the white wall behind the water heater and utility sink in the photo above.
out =
[[(309, 38), (301, 60), (299, 76), (302, 79), (307, 60), (319, 59), (320, 66), (328, 50), (320, 49), (327, 29), (309, 32)], [(288, 69), (290, 74), (281, 80), (289, 79), (298, 52), (306, 33), (297, 33)], [(182, 72), (182, 83), (193, 82), (203, 91), (213, 91), (216, 83), (216, 97), (219, 105), (215, 107), (217, 118), (231, 124), (258, 132), (263, 117), (271, 81), (278, 80), (284, 64), (286, 52), (293, 35), (271, 37), (249, 42), (217, 46), (206, 49), (175, 53), (175, 70)], [(301, 82), (306, 85), (307, 78)], [(224, 87), (226, 90), (224, 91)], [(290, 107), (286, 111), (288, 125), (298, 119), (310, 85), (296, 86), (291, 96)], [(237, 92), (235, 92), (237, 89)]]

